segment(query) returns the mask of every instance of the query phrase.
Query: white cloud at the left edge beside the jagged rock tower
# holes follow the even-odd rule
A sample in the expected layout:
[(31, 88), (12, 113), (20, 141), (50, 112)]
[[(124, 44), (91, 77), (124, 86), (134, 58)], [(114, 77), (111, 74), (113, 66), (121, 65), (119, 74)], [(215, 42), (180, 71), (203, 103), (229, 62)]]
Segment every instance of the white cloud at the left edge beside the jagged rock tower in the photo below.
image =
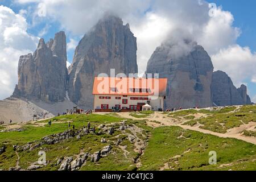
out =
[(13, 10), (0, 6), (0, 99), (9, 97), (18, 80), (20, 55), (32, 52), (38, 38), (27, 33), (27, 22)]

